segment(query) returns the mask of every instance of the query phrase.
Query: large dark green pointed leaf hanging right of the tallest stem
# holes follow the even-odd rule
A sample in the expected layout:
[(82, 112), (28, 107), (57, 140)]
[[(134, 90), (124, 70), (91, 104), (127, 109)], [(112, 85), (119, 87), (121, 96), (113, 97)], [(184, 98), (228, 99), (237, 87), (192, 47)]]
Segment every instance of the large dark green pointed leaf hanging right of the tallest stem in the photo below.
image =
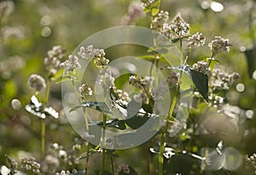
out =
[(192, 81), (198, 89), (201, 96), (208, 101), (208, 76), (199, 71), (190, 69)]

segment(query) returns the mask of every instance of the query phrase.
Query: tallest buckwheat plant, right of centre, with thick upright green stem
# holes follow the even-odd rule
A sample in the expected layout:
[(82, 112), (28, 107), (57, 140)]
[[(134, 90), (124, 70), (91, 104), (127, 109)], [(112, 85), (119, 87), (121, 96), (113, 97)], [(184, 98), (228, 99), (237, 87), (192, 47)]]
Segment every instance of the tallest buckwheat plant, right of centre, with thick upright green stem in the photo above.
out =
[[(216, 63), (218, 63), (216, 57), (219, 53), (230, 52), (231, 44), (229, 39), (224, 39), (223, 37), (219, 36), (214, 37), (212, 42), (208, 44), (210, 50), (212, 51), (211, 57), (198, 61), (190, 67), (187, 64), (190, 52), (195, 47), (204, 46), (206, 43), (206, 37), (204, 37), (200, 31), (197, 31), (195, 34), (191, 35), (189, 32), (190, 25), (185, 20), (183, 20), (181, 14), (177, 14), (172, 21), (169, 21), (168, 12), (159, 9), (158, 3), (160, 3), (160, 1), (141, 0), (141, 2), (143, 3), (144, 11), (149, 12), (149, 14), (152, 16), (150, 28), (154, 31), (159, 31), (162, 35), (170, 38), (173, 44), (177, 44), (177, 42), (179, 42), (177, 45), (179, 46), (181, 59), (183, 60), (181, 63), (182, 68), (175, 68), (172, 67), (172, 65), (167, 65), (167, 67), (164, 69), (171, 71), (169, 75), (166, 76), (166, 82), (168, 82), (170, 88), (173, 88), (174, 86), (175, 92), (173, 93), (174, 97), (172, 97), (173, 99), (169, 114), (166, 116), (166, 124), (160, 131), (160, 145), (158, 149), (159, 151), (157, 151), (159, 155), (158, 174), (163, 175), (166, 173), (163, 168), (165, 161), (164, 157), (168, 157), (166, 156), (166, 145), (168, 145), (168, 143), (166, 143), (166, 137), (168, 132), (172, 130), (170, 130), (170, 127), (175, 127), (172, 126), (172, 116), (175, 116), (175, 109), (177, 108), (177, 101), (179, 100), (178, 92), (181, 86), (183, 86), (183, 82), (181, 81), (183, 72), (191, 74), (192, 82), (195, 86), (194, 94), (200, 94), (202, 99), (204, 99), (209, 104), (209, 106), (215, 107), (219, 106), (217, 104), (224, 104), (225, 99), (225, 96), (219, 94), (218, 91), (222, 89), (229, 89), (236, 78), (238, 78), (238, 74), (236, 72), (229, 74), (214, 66)], [(155, 8), (158, 8), (158, 10)], [(158, 38), (155, 38), (154, 43), (160, 43)], [(183, 47), (184, 43), (186, 43), (186, 47)], [(184, 54), (185, 49), (188, 49), (186, 55)], [(135, 96), (135, 98), (143, 101), (143, 103), (148, 103), (150, 101), (148, 99), (150, 99), (150, 95), (152, 94), (148, 94), (150, 91), (145, 88), (143, 77), (131, 76), (129, 82), (137, 89), (143, 90), (143, 93), (139, 93), (137, 96)], [(150, 172), (150, 174), (154, 173), (155, 172)]]

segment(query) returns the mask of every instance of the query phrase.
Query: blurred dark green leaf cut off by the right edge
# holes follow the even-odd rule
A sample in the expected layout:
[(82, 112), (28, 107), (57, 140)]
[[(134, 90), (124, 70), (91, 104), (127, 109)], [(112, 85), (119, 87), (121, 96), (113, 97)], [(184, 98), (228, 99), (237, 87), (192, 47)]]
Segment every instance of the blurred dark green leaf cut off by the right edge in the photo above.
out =
[(248, 75), (250, 78), (253, 77), (253, 72), (256, 70), (256, 47), (247, 49), (244, 54), (247, 57)]

